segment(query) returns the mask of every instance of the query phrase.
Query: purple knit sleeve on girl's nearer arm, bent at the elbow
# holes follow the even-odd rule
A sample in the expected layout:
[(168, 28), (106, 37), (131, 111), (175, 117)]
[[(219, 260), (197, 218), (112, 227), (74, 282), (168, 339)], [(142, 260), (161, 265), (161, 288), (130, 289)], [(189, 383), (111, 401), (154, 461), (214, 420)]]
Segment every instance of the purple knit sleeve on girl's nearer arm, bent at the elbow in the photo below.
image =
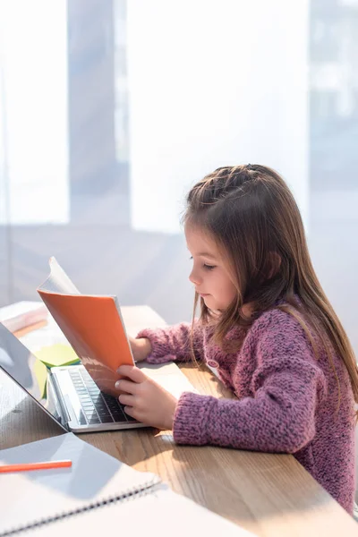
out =
[(228, 400), (184, 393), (175, 411), (177, 443), (294, 453), (311, 441), (325, 379), (301, 326), (281, 316), (287, 314), (279, 312), (257, 335), (253, 395)]

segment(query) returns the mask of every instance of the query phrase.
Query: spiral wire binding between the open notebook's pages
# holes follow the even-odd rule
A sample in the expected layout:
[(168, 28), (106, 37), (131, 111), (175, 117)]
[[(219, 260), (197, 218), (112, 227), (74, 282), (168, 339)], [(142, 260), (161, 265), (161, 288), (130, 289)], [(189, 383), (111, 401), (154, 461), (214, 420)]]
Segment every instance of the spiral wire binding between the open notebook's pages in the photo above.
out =
[(156, 490), (155, 487), (160, 484), (162, 484), (160, 479), (157, 476), (154, 476), (151, 481), (143, 483), (140, 487), (137, 486), (137, 487), (133, 487), (132, 489), (125, 490), (124, 492), (120, 493), (118, 496), (112, 496), (107, 499), (99, 499), (98, 501), (94, 501), (86, 506), (77, 507), (76, 509), (65, 511), (64, 513), (60, 513), (55, 516), (48, 516), (47, 518), (41, 518), (37, 522), (14, 527), (12, 530), (7, 530), (6, 532), (0, 533), (0, 537), (8, 537), (16, 533), (21, 533), (27, 530), (36, 529), (46, 524), (52, 524), (54, 522), (64, 520), (64, 518), (68, 518), (69, 516), (75, 516), (75, 515), (81, 515), (81, 513), (87, 513), (88, 511), (91, 511), (92, 509), (97, 509), (98, 507), (106, 507), (106, 506), (113, 505), (115, 503), (123, 503), (124, 501), (131, 501), (136, 498), (141, 498), (143, 496), (147, 496), (148, 494), (151, 494), (153, 490)]

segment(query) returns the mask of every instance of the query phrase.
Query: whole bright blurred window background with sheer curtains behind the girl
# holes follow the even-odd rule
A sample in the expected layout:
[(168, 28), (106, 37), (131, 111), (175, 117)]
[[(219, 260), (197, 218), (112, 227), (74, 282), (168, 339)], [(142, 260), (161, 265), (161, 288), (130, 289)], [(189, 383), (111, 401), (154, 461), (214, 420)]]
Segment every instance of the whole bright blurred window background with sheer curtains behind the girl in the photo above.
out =
[(185, 192), (260, 163), (358, 353), (357, 31), (357, 0), (0, 0), (0, 305), (55, 255), (83, 293), (189, 320)]

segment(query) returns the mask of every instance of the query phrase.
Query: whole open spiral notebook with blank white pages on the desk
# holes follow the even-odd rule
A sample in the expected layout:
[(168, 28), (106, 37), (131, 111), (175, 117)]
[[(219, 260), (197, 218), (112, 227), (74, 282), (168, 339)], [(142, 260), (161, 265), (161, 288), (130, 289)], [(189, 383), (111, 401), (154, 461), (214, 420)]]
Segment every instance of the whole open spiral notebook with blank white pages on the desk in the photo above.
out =
[(72, 467), (2, 474), (0, 537), (249, 535), (72, 433), (0, 451), (2, 464), (60, 459)]

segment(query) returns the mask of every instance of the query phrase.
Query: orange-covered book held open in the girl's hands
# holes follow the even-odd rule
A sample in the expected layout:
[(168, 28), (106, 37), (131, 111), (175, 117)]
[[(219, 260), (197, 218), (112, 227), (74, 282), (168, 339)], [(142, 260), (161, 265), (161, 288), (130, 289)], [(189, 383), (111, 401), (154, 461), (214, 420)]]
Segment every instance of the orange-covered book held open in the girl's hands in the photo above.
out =
[(81, 294), (54, 257), (38, 294), (101, 391), (118, 396), (120, 365), (133, 365), (116, 296)]

